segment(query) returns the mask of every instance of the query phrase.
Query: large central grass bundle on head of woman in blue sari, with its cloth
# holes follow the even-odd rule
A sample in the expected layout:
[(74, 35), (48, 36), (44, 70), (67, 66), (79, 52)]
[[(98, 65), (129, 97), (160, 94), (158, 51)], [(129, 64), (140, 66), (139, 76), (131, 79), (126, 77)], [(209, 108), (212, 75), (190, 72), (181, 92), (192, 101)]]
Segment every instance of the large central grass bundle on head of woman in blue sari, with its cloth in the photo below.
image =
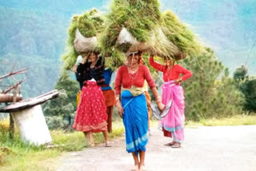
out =
[(177, 49), (161, 34), (158, 0), (113, 0), (110, 10), (101, 38), (102, 50), (115, 47), (123, 53), (141, 50), (166, 55)]

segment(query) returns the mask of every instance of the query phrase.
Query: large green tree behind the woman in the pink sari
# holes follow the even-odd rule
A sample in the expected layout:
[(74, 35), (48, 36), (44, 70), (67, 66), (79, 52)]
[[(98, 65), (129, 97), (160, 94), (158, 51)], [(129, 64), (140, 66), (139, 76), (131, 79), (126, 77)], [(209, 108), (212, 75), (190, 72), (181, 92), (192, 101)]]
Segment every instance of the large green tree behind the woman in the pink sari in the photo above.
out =
[(212, 50), (206, 49), (198, 58), (186, 58), (182, 66), (193, 73), (192, 78), (182, 83), (186, 118), (198, 121), (242, 113), (242, 93)]

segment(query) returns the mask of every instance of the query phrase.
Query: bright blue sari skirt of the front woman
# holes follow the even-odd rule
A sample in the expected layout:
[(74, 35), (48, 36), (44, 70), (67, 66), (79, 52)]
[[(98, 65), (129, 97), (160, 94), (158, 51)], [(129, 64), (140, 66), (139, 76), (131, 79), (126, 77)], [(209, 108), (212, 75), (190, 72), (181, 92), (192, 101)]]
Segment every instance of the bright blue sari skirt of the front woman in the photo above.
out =
[(138, 155), (146, 151), (148, 141), (148, 114), (145, 93), (133, 97), (129, 90), (121, 93), (123, 124), (126, 128), (126, 150)]

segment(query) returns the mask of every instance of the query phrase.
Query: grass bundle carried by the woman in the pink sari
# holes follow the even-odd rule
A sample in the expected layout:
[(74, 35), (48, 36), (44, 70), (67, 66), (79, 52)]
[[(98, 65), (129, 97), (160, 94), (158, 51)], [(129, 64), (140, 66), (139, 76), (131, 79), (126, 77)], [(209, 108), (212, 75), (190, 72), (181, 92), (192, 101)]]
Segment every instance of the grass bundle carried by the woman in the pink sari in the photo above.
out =
[[(182, 54), (188, 56), (198, 54), (201, 45), (196, 40), (196, 36), (178, 19), (177, 15), (167, 10), (162, 17), (164, 19), (162, 30), (170, 42), (173, 42)], [(173, 55), (172, 57), (175, 60), (182, 59), (182, 55)]]

